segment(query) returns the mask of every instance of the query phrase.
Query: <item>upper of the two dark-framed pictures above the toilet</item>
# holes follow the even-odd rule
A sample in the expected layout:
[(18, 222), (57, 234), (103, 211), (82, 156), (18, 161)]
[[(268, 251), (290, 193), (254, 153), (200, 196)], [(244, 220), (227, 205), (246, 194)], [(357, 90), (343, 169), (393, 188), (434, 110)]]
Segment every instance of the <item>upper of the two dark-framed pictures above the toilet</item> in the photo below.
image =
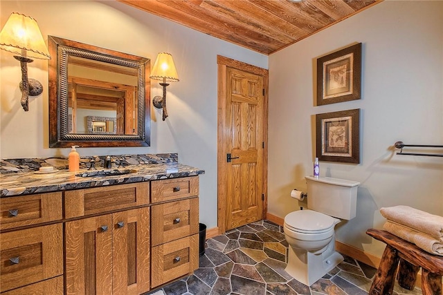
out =
[(317, 59), (317, 106), (361, 99), (361, 43)]

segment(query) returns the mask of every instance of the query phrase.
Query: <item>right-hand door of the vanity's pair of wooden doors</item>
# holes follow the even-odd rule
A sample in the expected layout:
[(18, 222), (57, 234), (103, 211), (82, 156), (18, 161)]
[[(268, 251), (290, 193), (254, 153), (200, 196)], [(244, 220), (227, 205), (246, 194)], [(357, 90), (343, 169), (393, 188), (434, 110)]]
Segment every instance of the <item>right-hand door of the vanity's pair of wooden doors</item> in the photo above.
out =
[(142, 294), (150, 289), (150, 209), (113, 214), (114, 294)]

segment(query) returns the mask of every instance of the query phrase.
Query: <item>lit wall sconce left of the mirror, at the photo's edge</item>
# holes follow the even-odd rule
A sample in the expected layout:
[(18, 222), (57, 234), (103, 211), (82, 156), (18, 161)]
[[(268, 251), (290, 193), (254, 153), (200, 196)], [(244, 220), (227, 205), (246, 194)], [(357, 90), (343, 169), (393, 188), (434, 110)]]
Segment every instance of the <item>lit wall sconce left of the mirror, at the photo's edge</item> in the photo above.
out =
[(42, 94), (42, 83), (28, 79), (28, 63), (33, 59), (51, 59), (37, 21), (27, 15), (12, 12), (0, 32), (0, 49), (14, 53), (21, 66), (21, 106), (29, 111), (28, 95)]

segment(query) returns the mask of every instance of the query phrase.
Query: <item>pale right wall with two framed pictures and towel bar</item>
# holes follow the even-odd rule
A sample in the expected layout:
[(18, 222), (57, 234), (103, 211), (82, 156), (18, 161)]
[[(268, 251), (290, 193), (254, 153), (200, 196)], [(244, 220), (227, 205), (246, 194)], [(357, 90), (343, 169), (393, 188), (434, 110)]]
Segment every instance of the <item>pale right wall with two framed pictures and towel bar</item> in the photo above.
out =
[[(314, 106), (316, 59), (354, 42), (363, 43), (362, 99)], [(312, 174), (315, 114), (361, 108), (361, 164), (320, 162), (320, 176), (361, 182), (357, 216), (336, 227), (336, 239), (381, 256), (384, 244), (365, 235), (383, 226), (381, 207), (443, 216), (443, 158), (392, 147), (443, 144), (443, 1), (379, 3), (274, 53), (269, 73), (269, 213), (306, 206), (289, 192), (305, 190)]]

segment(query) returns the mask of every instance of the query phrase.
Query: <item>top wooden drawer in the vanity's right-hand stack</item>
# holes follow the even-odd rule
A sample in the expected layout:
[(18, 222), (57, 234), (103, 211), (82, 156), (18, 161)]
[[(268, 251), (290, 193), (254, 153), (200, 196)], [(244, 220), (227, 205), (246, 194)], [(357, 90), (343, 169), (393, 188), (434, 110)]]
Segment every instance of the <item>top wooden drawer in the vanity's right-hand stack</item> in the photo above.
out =
[(153, 180), (151, 202), (164, 202), (199, 195), (199, 177)]

